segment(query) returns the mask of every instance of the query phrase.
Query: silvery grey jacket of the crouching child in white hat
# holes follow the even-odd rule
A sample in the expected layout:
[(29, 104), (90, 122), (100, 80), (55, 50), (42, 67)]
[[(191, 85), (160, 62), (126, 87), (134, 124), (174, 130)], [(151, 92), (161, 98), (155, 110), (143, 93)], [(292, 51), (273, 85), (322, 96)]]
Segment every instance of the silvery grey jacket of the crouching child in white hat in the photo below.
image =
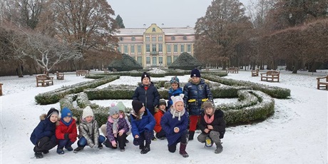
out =
[(80, 125), (78, 125), (78, 132), (78, 138), (86, 138), (86, 142), (91, 148), (95, 145), (98, 147), (99, 127), (95, 118), (88, 123), (81, 117)]

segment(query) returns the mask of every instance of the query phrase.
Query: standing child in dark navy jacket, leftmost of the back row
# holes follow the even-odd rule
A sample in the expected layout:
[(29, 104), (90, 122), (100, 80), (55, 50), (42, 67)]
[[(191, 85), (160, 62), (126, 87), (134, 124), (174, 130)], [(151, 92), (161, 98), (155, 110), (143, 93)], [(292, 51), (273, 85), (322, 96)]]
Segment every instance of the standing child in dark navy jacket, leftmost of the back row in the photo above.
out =
[(153, 82), (150, 82), (150, 75), (146, 72), (141, 76), (141, 85), (135, 89), (132, 96), (133, 100), (141, 101), (148, 108), (150, 113), (154, 115), (155, 106), (158, 106), (158, 101), (160, 101), (160, 94), (157, 88), (154, 86)]

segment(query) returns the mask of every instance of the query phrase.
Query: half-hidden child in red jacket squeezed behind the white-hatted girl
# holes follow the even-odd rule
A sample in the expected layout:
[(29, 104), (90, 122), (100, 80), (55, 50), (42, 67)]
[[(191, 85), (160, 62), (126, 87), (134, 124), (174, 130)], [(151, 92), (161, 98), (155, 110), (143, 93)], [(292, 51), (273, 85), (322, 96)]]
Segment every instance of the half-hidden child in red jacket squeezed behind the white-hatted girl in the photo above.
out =
[(166, 112), (166, 102), (164, 99), (160, 99), (160, 102), (158, 103), (158, 108), (155, 108), (155, 115), (154, 115), (156, 121), (154, 130), (156, 132), (156, 138), (160, 140), (164, 140), (165, 138), (165, 131), (160, 125), (160, 118), (162, 118), (165, 112)]

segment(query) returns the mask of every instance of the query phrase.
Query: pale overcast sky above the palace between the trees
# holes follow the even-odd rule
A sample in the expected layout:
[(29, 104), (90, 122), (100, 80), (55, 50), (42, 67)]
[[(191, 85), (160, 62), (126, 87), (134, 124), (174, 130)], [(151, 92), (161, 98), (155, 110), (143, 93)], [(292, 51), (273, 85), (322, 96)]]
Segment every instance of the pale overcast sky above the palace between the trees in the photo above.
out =
[[(119, 14), (125, 28), (195, 26), (198, 18), (205, 16), (212, 0), (107, 0)], [(241, 0), (245, 6), (250, 0)], [(114, 18), (116, 18), (116, 16)], [(164, 25), (162, 25), (164, 24)]]

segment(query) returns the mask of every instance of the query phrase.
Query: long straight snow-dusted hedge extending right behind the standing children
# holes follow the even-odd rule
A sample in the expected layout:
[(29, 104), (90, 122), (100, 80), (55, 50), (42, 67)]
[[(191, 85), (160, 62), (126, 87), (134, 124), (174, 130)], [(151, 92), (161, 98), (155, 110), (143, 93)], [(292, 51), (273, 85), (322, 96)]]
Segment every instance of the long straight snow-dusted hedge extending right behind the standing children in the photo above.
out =
[(262, 91), (272, 96), (273, 98), (288, 98), (290, 96), (290, 90), (287, 88), (280, 88), (277, 86), (267, 86), (259, 83), (252, 83), (250, 81), (237, 81), (230, 78), (220, 78), (212, 74), (204, 75), (203, 78), (206, 78), (210, 81), (215, 81), (217, 83), (222, 83), (227, 86), (247, 86), (252, 88), (252, 90)]

